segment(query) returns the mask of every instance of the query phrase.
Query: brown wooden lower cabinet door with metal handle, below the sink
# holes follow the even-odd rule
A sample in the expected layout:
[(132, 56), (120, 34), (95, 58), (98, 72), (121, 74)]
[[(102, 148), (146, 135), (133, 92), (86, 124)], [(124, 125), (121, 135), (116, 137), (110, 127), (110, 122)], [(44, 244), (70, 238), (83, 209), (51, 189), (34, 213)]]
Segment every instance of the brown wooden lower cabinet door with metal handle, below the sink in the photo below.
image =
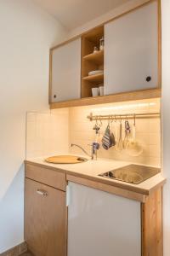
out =
[(35, 256), (66, 255), (65, 192), (26, 178), (25, 240)]

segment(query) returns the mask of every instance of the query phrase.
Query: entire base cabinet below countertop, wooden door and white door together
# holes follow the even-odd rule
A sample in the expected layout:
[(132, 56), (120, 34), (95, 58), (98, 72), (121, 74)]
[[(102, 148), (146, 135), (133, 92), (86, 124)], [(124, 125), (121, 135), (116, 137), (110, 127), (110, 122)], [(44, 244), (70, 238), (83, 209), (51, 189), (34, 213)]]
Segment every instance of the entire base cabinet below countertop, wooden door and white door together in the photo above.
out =
[(142, 201), (106, 187), (26, 164), (25, 240), (31, 253), (162, 256), (161, 186)]

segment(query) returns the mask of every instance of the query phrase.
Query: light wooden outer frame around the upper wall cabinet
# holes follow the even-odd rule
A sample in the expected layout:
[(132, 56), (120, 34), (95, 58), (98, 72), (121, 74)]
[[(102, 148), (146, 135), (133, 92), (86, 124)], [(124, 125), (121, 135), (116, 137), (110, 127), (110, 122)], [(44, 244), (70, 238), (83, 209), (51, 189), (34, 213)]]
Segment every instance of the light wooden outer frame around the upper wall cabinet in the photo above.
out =
[[(135, 11), (136, 9), (141, 8), (146, 4), (150, 4), (151, 2), (157, 2), (158, 4), (158, 87), (156, 89), (150, 90), (138, 90), (138, 91), (130, 91), (125, 93), (112, 94), (108, 96), (97, 96), (97, 97), (86, 97), (88, 95), (87, 91), (83, 92), (85, 97), (77, 100), (70, 100), (65, 102), (51, 102), (52, 95), (52, 61), (53, 61), (53, 51), (65, 44), (69, 44), (71, 41), (76, 40), (77, 38), (84, 38), (86, 34), (91, 31), (99, 30), (99, 27), (104, 26), (105, 24), (120, 18), (122, 15), (127, 15), (128, 13)], [(80, 84), (80, 86), (82, 86)], [(83, 32), (80, 35), (77, 35), (74, 38), (71, 38), (65, 41), (62, 44), (58, 44), (50, 49), (49, 52), (49, 105), (50, 108), (68, 108), (68, 107), (77, 107), (77, 106), (87, 106), (94, 104), (103, 104), (103, 103), (111, 103), (111, 102), (124, 102), (124, 101), (132, 101), (132, 100), (141, 100), (148, 98), (156, 98), (161, 97), (161, 0), (146, 0), (138, 3), (138, 5), (134, 3), (134, 7), (131, 9), (125, 9), (119, 14), (116, 14), (111, 20), (107, 20), (99, 26), (90, 29), (88, 32)]]

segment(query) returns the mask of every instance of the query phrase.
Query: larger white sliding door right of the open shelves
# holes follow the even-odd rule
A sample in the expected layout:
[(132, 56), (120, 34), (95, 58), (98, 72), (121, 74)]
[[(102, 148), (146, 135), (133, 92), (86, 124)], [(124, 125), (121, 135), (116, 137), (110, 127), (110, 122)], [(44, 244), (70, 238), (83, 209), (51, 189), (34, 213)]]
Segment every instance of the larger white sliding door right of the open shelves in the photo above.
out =
[(105, 25), (105, 95), (158, 86), (157, 22), (153, 2)]

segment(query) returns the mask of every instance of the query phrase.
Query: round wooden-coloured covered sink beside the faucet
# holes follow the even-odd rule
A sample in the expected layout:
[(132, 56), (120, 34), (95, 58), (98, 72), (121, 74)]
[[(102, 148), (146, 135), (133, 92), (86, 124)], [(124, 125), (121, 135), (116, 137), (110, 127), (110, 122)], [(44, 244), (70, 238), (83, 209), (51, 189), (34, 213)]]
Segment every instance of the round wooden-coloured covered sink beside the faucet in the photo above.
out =
[(60, 154), (48, 157), (45, 161), (51, 164), (80, 164), (87, 162), (88, 159), (72, 154)]

